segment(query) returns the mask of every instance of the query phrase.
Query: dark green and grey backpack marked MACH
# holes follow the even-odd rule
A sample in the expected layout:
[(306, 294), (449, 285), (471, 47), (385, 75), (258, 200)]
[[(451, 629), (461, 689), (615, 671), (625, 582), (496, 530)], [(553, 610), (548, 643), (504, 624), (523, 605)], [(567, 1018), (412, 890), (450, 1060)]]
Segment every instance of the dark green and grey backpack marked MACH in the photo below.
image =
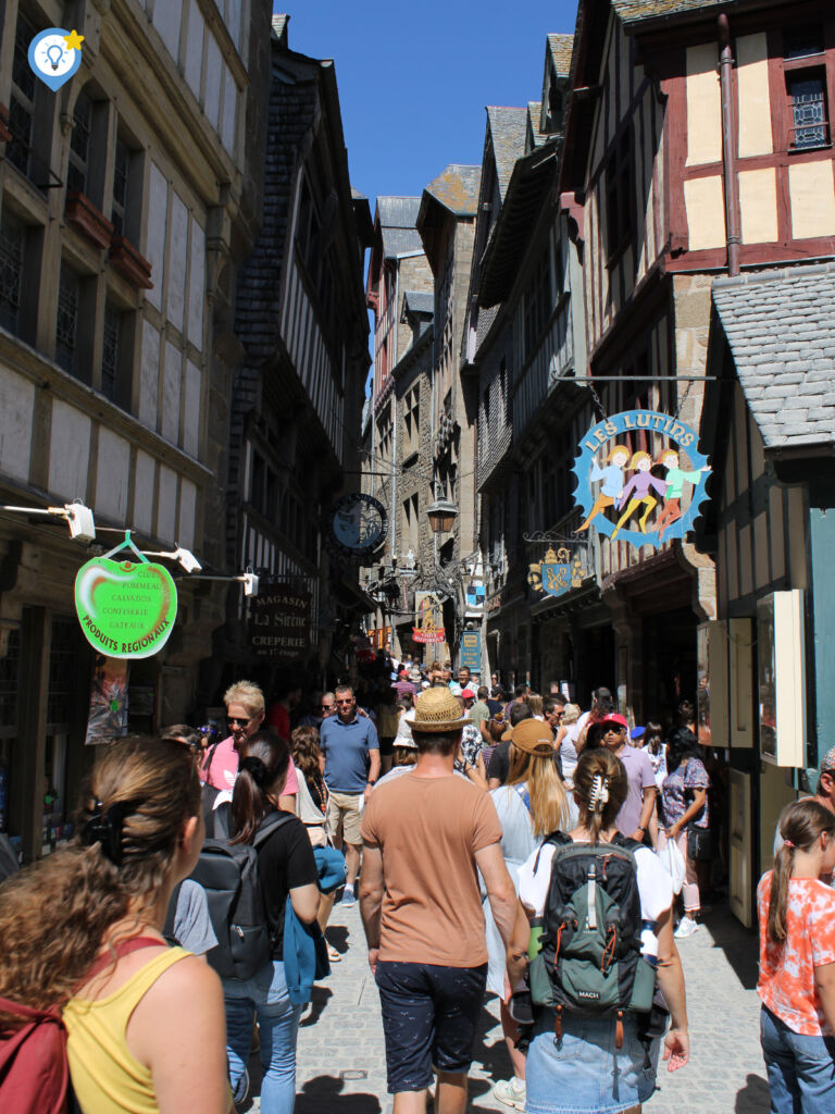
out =
[(615, 1014), (622, 1043), (623, 1013), (648, 1013), (655, 991), (655, 967), (641, 957), (640, 844), (620, 833), (610, 843), (574, 843), (562, 832), (546, 843), (554, 852), (530, 966), (533, 1004), (554, 1010), (558, 1037), (563, 1010)]

